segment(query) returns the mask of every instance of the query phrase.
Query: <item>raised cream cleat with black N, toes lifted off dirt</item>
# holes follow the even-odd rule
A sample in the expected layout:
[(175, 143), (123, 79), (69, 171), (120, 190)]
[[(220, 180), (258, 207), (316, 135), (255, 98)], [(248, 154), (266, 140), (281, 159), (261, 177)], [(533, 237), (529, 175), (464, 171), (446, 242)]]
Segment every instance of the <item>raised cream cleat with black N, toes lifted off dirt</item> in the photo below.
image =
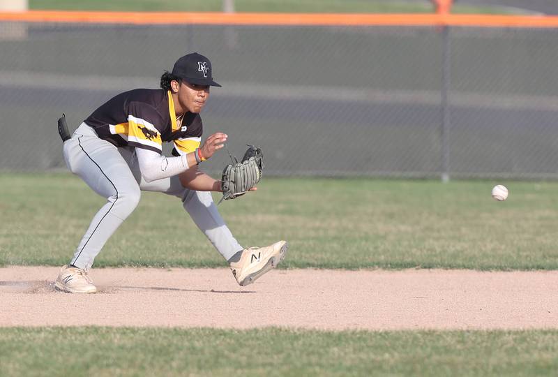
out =
[(277, 267), (289, 249), (286, 241), (279, 241), (271, 246), (250, 247), (245, 249), (238, 262), (230, 264), (232, 274), (240, 286), (256, 281), (269, 270)]

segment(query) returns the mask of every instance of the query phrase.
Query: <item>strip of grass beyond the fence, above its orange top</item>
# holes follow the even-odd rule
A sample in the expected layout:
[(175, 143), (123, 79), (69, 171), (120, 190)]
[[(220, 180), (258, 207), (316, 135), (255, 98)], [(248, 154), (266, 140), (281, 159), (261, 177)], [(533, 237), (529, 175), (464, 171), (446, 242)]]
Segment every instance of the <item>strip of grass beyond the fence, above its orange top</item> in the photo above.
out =
[[(281, 13), (432, 13), (430, 1), (368, 0), (234, 0), (237, 12)], [(119, 10), (151, 12), (220, 12), (223, 0), (29, 0), (30, 9)], [(498, 6), (462, 6), (454, 13), (517, 13)]]

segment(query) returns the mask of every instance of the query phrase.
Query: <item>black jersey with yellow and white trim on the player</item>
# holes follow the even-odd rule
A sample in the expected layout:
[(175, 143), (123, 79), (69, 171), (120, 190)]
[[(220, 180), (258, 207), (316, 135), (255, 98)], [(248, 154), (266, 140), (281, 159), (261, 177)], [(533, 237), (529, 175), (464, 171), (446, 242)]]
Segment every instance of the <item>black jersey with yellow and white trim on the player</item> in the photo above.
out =
[(111, 98), (84, 121), (99, 138), (117, 146), (130, 145), (162, 153), (163, 142), (174, 142), (173, 154), (195, 151), (203, 126), (199, 114), (186, 112), (176, 124), (170, 91), (134, 89)]

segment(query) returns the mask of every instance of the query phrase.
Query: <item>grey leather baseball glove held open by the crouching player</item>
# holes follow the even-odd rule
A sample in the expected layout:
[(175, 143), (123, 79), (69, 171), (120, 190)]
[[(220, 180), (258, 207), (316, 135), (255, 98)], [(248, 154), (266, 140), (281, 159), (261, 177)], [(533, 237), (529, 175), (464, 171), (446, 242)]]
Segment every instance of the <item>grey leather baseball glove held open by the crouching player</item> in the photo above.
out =
[(259, 179), (262, 179), (262, 170), (265, 168), (262, 149), (253, 145), (248, 145), (241, 162), (236, 158), (233, 160), (232, 156), (231, 161), (232, 163), (225, 166), (223, 170), (221, 179), (223, 198), (220, 202), (223, 199), (229, 200), (244, 195), (259, 182)]

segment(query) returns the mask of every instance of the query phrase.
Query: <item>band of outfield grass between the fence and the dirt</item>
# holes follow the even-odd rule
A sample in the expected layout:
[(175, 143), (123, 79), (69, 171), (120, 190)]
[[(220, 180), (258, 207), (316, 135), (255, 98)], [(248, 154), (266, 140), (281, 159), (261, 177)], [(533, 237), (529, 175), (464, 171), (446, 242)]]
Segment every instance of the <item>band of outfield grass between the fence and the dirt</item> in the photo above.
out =
[[(510, 189), (506, 202), (490, 197), (496, 183)], [(557, 192), (557, 182), (268, 177), (219, 210), (244, 246), (287, 239), (283, 267), (558, 269)], [(66, 173), (0, 174), (0, 264), (67, 263), (103, 202)], [(180, 200), (143, 193), (96, 259), (122, 265), (225, 261)]]

